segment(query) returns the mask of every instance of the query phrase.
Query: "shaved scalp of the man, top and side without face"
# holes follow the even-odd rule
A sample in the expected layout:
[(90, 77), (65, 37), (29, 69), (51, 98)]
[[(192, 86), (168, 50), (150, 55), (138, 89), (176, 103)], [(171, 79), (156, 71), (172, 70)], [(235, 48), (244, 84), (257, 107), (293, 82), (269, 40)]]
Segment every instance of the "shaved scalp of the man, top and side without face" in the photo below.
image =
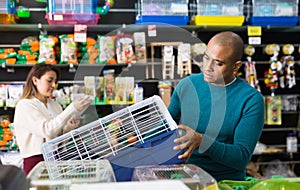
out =
[(232, 61), (241, 60), (244, 53), (244, 42), (242, 38), (234, 32), (220, 32), (213, 36), (209, 43), (219, 46), (229, 46), (232, 49)]

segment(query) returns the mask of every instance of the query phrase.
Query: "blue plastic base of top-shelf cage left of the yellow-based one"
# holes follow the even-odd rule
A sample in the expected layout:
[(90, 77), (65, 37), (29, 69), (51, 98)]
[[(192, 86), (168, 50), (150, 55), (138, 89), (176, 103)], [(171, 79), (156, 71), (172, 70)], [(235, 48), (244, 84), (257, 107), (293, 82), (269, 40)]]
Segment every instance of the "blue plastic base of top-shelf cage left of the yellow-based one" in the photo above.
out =
[(187, 25), (189, 22), (189, 16), (145, 16), (140, 15), (136, 17), (136, 24), (172, 24), (172, 25)]

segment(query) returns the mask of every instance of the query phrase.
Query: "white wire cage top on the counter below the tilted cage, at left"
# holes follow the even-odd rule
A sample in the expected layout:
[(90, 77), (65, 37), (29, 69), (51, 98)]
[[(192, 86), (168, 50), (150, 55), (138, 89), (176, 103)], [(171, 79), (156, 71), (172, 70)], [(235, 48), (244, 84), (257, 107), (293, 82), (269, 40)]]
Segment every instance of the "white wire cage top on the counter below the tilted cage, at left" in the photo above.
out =
[(43, 161), (27, 177), (32, 187), (41, 189), (68, 189), (71, 184), (116, 181), (112, 166), (106, 159)]

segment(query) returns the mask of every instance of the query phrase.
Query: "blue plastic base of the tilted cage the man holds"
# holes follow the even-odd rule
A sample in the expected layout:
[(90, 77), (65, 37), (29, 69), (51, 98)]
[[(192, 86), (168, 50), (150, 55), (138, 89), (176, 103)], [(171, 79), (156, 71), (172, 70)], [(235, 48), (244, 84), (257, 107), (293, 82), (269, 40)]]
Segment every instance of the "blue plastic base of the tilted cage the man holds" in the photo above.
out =
[(174, 139), (178, 137), (177, 130), (166, 132), (109, 157), (117, 181), (131, 181), (133, 170), (137, 166), (183, 163), (184, 159), (178, 159), (183, 151), (173, 150)]

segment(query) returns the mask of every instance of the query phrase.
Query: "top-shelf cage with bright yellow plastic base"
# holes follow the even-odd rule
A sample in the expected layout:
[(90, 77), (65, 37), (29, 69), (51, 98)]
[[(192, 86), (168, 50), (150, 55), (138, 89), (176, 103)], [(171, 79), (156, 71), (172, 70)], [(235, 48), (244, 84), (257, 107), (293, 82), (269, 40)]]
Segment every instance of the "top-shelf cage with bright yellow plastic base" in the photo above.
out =
[(191, 24), (200, 26), (241, 26), (245, 20), (243, 0), (197, 0)]

